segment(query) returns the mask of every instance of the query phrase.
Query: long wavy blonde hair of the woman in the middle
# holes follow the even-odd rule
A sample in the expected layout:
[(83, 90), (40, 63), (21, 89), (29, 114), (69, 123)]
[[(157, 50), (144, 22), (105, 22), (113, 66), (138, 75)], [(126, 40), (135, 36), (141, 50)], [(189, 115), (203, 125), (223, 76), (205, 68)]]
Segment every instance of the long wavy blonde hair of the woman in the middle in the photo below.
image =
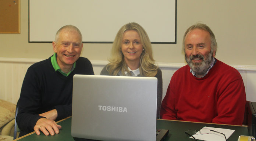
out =
[(140, 74), (145, 77), (154, 77), (157, 74), (158, 66), (155, 65), (155, 60), (153, 59), (152, 46), (147, 36), (146, 31), (140, 26), (138, 23), (127, 23), (122, 26), (121, 29), (117, 32), (115, 36), (115, 40), (112, 46), (112, 56), (109, 59), (109, 64), (107, 64), (107, 71), (109, 71), (110, 75), (117, 75), (119, 71), (121, 71), (122, 75), (125, 75), (125, 71), (127, 71), (130, 75), (131, 73), (128, 70), (127, 64), (124, 60), (124, 55), (121, 51), (121, 42), (123, 38), (123, 34), (127, 30), (135, 30), (139, 37), (141, 38), (141, 43), (144, 51), (141, 53), (140, 59)]

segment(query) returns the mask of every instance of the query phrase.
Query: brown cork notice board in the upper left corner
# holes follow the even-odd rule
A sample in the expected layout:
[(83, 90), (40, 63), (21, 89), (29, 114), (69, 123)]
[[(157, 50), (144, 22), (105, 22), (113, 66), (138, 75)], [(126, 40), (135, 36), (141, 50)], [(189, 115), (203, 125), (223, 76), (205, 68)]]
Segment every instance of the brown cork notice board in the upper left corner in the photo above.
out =
[(19, 7), (19, 0), (0, 0), (0, 33), (20, 33)]

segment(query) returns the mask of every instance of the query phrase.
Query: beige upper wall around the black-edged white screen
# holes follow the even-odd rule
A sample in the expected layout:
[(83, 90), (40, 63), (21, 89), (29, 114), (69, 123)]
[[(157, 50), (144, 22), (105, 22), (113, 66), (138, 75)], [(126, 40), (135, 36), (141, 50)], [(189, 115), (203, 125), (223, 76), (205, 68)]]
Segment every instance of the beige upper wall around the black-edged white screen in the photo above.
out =
[[(255, 6), (256, 0), (177, 0), (177, 44), (153, 44), (154, 59), (185, 63), (181, 51), (183, 34), (201, 21), (216, 36), (217, 59), (230, 65), (256, 65)], [(110, 49), (111, 44), (84, 44), (82, 56), (107, 60)], [(28, 0), (21, 0), (21, 34), (0, 34), (0, 57), (45, 59), (52, 54), (50, 43), (28, 43)]]

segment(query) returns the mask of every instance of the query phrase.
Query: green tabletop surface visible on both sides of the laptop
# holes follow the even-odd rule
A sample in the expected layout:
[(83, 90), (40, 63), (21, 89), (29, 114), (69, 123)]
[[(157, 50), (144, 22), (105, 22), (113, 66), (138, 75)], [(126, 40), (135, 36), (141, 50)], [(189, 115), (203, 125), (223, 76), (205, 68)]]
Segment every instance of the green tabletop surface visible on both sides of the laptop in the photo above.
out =
[[(71, 136), (71, 118), (65, 119), (58, 123), (62, 126), (59, 134), (54, 136), (45, 136), (43, 133), (36, 135), (30, 134), (26, 137), (20, 137), (18, 141), (74, 141)], [(196, 122), (183, 122), (176, 120), (161, 120), (157, 119), (157, 129), (169, 129), (170, 132), (164, 141), (194, 141), (185, 135), (186, 130), (195, 129), (200, 130), (203, 127), (216, 127), (232, 129), (235, 132), (228, 138), (229, 141), (237, 141), (240, 135), (249, 136), (247, 126), (232, 126), (232, 125), (219, 125), (211, 123), (196, 123)], [(199, 141), (199, 140), (198, 140)]]

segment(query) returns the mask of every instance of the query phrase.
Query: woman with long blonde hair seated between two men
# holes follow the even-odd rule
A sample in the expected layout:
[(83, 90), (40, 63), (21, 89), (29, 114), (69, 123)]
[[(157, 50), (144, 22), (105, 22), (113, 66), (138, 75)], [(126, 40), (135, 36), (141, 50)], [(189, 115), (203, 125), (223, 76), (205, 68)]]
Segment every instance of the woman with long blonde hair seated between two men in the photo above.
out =
[(112, 56), (100, 75), (138, 76), (157, 78), (157, 118), (163, 93), (162, 72), (155, 65), (151, 42), (138, 23), (128, 23), (115, 36)]

